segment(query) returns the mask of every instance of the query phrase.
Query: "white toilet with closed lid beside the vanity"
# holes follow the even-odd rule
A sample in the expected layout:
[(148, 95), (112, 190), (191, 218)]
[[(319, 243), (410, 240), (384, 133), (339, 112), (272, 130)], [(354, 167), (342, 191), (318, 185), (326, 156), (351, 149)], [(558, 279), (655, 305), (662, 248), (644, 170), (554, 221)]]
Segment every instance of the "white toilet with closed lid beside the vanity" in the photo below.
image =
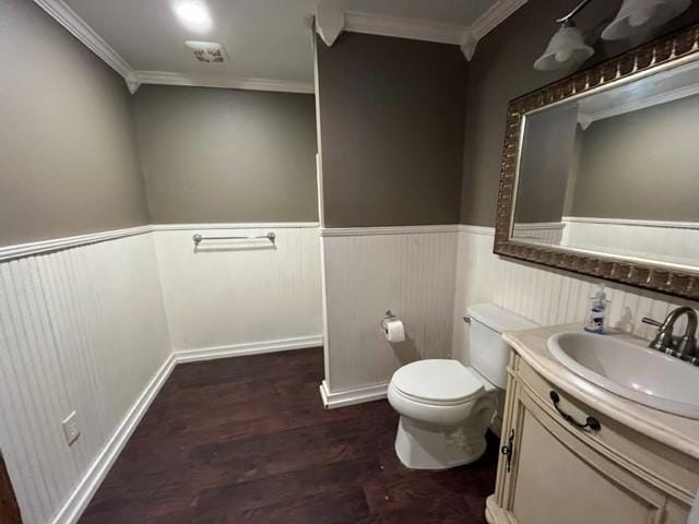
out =
[(395, 453), (413, 469), (445, 469), (477, 460), (507, 385), (510, 347), (506, 331), (536, 327), (491, 303), (469, 308), (471, 366), (459, 360), (418, 360), (393, 373), (389, 402), (401, 415)]

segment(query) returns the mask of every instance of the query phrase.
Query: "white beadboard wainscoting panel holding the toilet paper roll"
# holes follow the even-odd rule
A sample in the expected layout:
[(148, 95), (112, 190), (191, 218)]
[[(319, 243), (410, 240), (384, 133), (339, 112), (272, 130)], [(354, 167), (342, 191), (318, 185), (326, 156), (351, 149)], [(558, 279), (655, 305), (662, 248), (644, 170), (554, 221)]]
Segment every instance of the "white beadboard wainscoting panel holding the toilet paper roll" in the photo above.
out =
[[(386, 396), (393, 371), (451, 350), (457, 226), (321, 229), (328, 407)], [(387, 310), (405, 324), (390, 344)]]

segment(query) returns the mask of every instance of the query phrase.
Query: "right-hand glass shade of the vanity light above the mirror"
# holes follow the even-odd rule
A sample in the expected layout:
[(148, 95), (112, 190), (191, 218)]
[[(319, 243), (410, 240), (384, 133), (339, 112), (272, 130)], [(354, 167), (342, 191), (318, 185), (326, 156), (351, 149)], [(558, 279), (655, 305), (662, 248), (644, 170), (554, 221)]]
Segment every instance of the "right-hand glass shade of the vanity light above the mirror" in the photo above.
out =
[(637, 31), (670, 22), (691, 4), (691, 0), (624, 0), (619, 12), (602, 32), (605, 40), (629, 38)]

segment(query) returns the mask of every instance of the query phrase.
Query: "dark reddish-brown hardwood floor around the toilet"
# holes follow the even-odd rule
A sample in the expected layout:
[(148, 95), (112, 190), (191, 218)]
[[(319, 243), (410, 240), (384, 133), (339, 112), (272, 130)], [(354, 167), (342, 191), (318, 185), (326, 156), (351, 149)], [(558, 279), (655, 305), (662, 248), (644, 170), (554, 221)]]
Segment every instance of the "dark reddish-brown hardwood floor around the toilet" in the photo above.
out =
[(485, 522), (495, 441), (408, 471), (388, 402), (325, 410), (322, 376), (321, 348), (177, 366), (80, 522)]

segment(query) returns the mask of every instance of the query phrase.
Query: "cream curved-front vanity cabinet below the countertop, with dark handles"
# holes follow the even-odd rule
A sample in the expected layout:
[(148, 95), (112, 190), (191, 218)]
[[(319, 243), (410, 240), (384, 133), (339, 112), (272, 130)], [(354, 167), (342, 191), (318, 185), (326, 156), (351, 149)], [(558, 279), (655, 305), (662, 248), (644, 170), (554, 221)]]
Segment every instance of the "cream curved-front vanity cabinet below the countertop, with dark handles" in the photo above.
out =
[(699, 485), (698, 461), (596, 413), (517, 354), (500, 444), (489, 523), (685, 524)]

